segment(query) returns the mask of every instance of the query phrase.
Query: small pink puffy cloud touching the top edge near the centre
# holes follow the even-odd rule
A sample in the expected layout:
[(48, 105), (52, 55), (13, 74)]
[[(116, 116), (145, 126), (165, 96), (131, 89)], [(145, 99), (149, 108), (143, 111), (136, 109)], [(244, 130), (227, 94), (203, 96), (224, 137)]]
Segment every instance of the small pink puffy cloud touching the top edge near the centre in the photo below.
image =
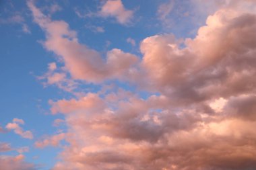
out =
[(133, 18), (133, 11), (125, 9), (121, 0), (108, 0), (100, 10), (102, 17), (115, 17), (120, 24), (129, 24)]

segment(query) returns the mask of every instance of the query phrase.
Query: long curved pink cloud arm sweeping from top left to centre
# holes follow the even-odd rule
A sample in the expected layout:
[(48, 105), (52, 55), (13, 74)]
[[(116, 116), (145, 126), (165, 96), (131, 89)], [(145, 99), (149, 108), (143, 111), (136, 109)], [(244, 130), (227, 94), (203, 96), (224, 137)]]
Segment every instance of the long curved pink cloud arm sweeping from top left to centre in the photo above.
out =
[(137, 62), (137, 56), (119, 49), (108, 51), (104, 62), (99, 52), (79, 44), (77, 33), (70, 30), (66, 22), (51, 21), (32, 1), (28, 1), (28, 7), (32, 11), (34, 21), (46, 32), (44, 47), (55, 52), (63, 60), (65, 69), (73, 79), (99, 83), (105, 79), (119, 78), (129, 73), (130, 67)]

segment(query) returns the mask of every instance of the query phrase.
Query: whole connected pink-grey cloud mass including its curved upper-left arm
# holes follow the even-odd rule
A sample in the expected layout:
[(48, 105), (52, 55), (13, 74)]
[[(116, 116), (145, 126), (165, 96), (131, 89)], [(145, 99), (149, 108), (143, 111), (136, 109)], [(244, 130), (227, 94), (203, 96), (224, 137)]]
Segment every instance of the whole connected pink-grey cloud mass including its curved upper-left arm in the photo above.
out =
[[(220, 5), (195, 38), (150, 36), (141, 41), (141, 60), (113, 49), (104, 62), (79, 44), (67, 23), (52, 21), (29, 1), (35, 22), (46, 32), (44, 46), (61, 56), (73, 79), (123, 81), (132, 72), (130, 81), (137, 85), (135, 91), (109, 85), (50, 100), (52, 114), (65, 117), (56, 124), (65, 123), (67, 133), (36, 146), (68, 143), (53, 169), (255, 169), (256, 14), (236, 2)], [(56, 68), (49, 65), (50, 71)], [(148, 96), (141, 98), (140, 89)]]

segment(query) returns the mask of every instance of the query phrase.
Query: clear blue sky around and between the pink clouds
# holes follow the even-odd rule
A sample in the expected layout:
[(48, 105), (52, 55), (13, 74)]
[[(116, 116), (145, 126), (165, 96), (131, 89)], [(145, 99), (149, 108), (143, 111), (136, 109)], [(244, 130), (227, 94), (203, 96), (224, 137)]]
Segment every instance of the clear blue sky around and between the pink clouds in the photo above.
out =
[[(81, 13), (91, 11), (96, 13), (100, 5), (99, 1), (35, 1), (36, 6), (46, 12), (46, 6), (59, 4), (61, 11), (53, 13), (53, 20), (64, 20), (71, 30), (77, 32), (79, 42), (90, 48), (98, 50), (105, 57), (106, 51), (112, 48), (120, 48), (125, 52), (131, 52), (141, 56), (139, 53), (139, 42), (148, 36), (156, 34), (173, 33), (178, 38), (195, 36), (193, 30), (197, 30), (199, 24), (191, 6), (187, 1), (176, 1), (176, 6), (167, 16), (170, 23), (164, 28), (157, 18), (157, 7), (166, 1), (123, 0), (125, 8), (134, 10), (134, 17), (131, 26), (122, 26), (114, 18), (85, 17), (80, 18), (75, 14), (75, 9)], [(182, 13), (189, 11), (191, 17), (184, 17)], [(24, 18), (22, 22), (12, 22), (11, 17), (20, 15)], [(57, 100), (63, 97), (71, 97), (67, 93), (57, 89), (55, 86), (44, 88), (36, 76), (46, 72), (47, 65), (55, 62), (55, 54), (47, 52), (38, 41), (45, 40), (44, 32), (33, 22), (31, 12), (26, 6), (26, 1), (0, 1), (0, 126), (5, 126), (13, 118), (22, 118), (25, 125), (24, 130), (32, 130), (33, 140), (21, 138), (9, 132), (0, 134), (1, 142), (10, 142), (11, 146), (18, 148), (30, 146), (30, 152), (24, 153), (26, 160), (33, 163), (44, 164), (44, 168), (53, 167), (55, 157), (60, 148), (34, 148), (34, 142), (44, 134), (55, 134), (57, 129), (52, 126), (53, 121), (61, 116), (51, 116), (49, 112), (49, 99)], [(9, 22), (8, 22), (9, 21)], [(31, 34), (22, 32), (22, 26), (26, 24)], [(86, 27), (87, 26), (87, 27)], [(103, 33), (95, 33), (88, 29), (88, 26), (100, 26), (104, 28)], [(136, 46), (126, 42), (127, 38), (133, 38)], [(109, 43), (109, 44), (108, 44)], [(107, 45), (108, 44), (108, 45)], [(129, 91), (136, 91), (135, 87), (126, 83), (116, 83)], [(93, 87), (94, 85), (89, 85)], [(83, 86), (82, 86), (83, 87)], [(88, 87), (88, 85), (84, 85)], [(98, 91), (96, 86), (92, 92)], [(139, 91), (143, 98), (148, 97), (146, 91)], [(12, 155), (10, 153), (1, 153)], [(37, 159), (33, 157), (38, 156)]]

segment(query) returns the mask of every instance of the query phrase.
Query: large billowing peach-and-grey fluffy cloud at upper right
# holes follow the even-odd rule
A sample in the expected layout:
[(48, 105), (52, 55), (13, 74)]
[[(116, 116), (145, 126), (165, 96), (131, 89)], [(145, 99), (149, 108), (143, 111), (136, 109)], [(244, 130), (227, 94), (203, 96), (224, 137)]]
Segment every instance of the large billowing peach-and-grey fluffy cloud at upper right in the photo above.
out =
[(185, 48), (173, 35), (146, 38), (141, 42), (142, 67), (151, 86), (178, 103), (252, 93), (255, 19), (253, 13), (220, 9), (196, 38), (185, 40)]

